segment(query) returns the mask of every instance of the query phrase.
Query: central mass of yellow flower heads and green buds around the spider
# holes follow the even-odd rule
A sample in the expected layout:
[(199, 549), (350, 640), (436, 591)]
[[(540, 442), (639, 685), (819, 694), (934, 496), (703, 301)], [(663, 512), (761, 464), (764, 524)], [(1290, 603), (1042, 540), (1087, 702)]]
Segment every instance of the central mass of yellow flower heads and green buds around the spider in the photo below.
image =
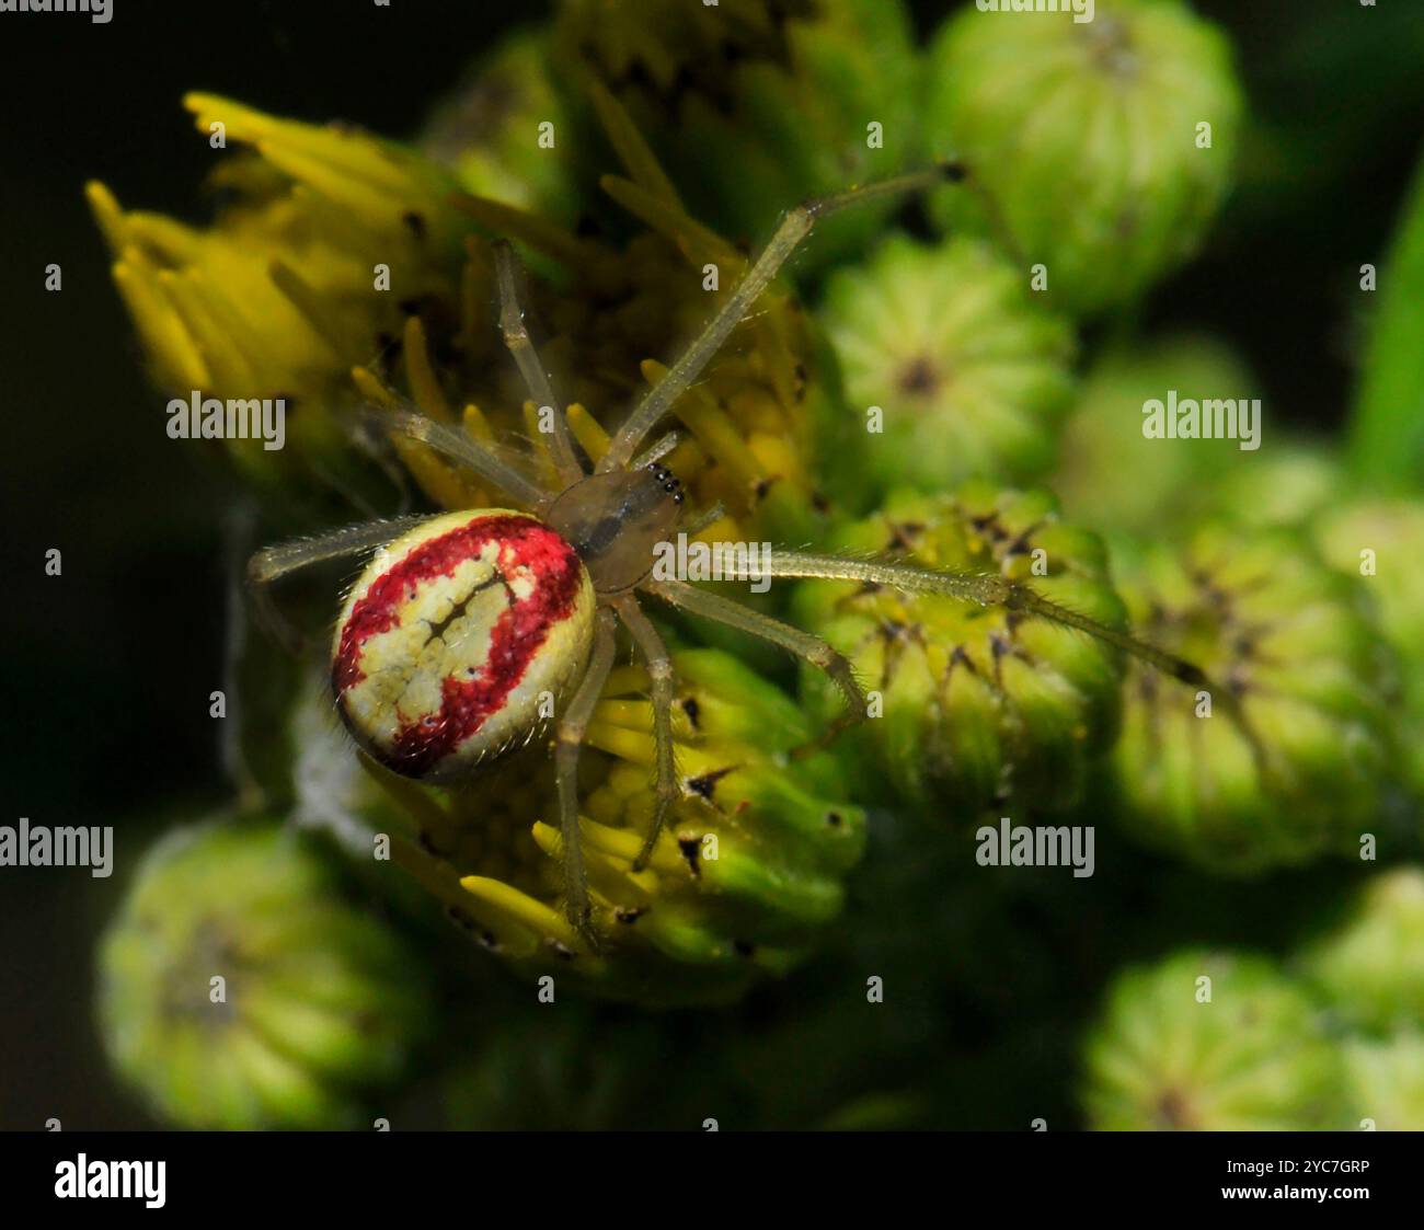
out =
[[(1158, 544), (1114, 551), (1131, 611), (1102, 542), (1052, 497), (1012, 485), (1051, 474), (1075, 394), (1077, 339), (1059, 313), (1141, 298), (1196, 248), (1229, 185), (1240, 88), (1223, 40), (1185, 3), (1099, 0), (1091, 23), (965, 10), (921, 60), (899, 3), (656, 0), (635, 14), (565, 0), (477, 65), (419, 152), (206, 95), (189, 108), (215, 147), (238, 147), (214, 177), (212, 226), (90, 192), (155, 377), (172, 393), (290, 399), (295, 447), (231, 441), (239, 468), (268, 493), (335, 484), (377, 508), (394, 504), (392, 473), (431, 507), (496, 500), (410, 441), (393, 441), (406, 473), (373, 467), (350, 430), (357, 403), (413, 403), (494, 450), (524, 437), (528, 464), (553, 473), (544, 407), (527, 400), (496, 322), (498, 242), (530, 265), (525, 319), (577, 447), (598, 460), (725, 302), (745, 239), (810, 195), (931, 152), (961, 161), (961, 182), (931, 199), (948, 238), (893, 232), (873, 246), (891, 201), (817, 225), (790, 275), (823, 293), (803, 308), (769, 288), (672, 409), (679, 438), (662, 464), (692, 510), (721, 505), (708, 538), (1004, 578), (1114, 632), (1131, 626), (1212, 680), (1196, 690), (1128, 665), (1109, 639), (1031, 611), (779, 585), (772, 601), (789, 594), (783, 611), (850, 658), (867, 720), (793, 756), (840, 705), (819, 676), (806, 673), (797, 705), (745, 665), (760, 661), (745, 642), (740, 663), (684, 651), (684, 792), (644, 864), (648, 680), (617, 669), (582, 769), (598, 945), (560, 908), (540, 740), (460, 789), (367, 766), (347, 773), (355, 801), (337, 806), (332, 779), (309, 770), (356, 762), (308, 720), (293, 739), (299, 813), (389, 826), (397, 861), (520, 969), (639, 1002), (735, 995), (799, 960), (836, 914), (864, 836), (856, 803), (886, 792), (957, 817), (1061, 811), (1102, 773), (1146, 840), (1227, 871), (1370, 836), (1400, 750), (1380, 636), (1349, 574), (1376, 540), (1424, 538), (1413, 505), (1327, 517), (1337, 475), (1306, 446), (1257, 464), (1229, 443), (1220, 468), (1222, 448), (1151, 447), (1161, 441), (1142, 440), (1136, 411), (1163, 386), (1253, 387), (1202, 342), (1109, 356), (1069, 420), (1054, 480), (1069, 521)], [(1124, 436), (1149, 447), (1115, 451)], [(1206, 485), (1250, 507), (1193, 538), (1222, 511), (1222, 498), (1198, 498)], [(836, 503), (859, 520), (827, 535)], [(1414, 663), (1417, 595), (1390, 578), (1377, 611)], [(1411, 713), (1424, 712), (1420, 678), (1405, 676)]]

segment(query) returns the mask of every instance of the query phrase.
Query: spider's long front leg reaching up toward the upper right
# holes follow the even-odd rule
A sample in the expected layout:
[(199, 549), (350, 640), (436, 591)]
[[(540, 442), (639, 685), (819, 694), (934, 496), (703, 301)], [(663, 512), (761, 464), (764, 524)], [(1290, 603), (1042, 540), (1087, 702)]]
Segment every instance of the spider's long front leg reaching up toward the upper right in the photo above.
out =
[(718, 309), (716, 315), (706, 323), (706, 327), (693, 339), (692, 345), (678, 356), (678, 360), (668, 369), (642, 401), (628, 416), (628, 421), (618, 430), (608, 451), (598, 463), (598, 470), (612, 470), (627, 466), (644, 437), (658, 424), (658, 420), (672, 407), (691, 384), (702, 374), (702, 369), (731, 336), (732, 330), (742, 322), (762, 292), (770, 285), (786, 259), (796, 251), (796, 246), (812, 232), (816, 222), (829, 214), (844, 209), (850, 205), (860, 205), (880, 196), (899, 192), (910, 192), (917, 188), (928, 188), (940, 179), (958, 181), (964, 178), (964, 168), (957, 162), (947, 162), (927, 171), (914, 171), (909, 175), (897, 175), (890, 179), (880, 179), (866, 184), (862, 188), (852, 188), (849, 192), (837, 192), (830, 196), (820, 196), (797, 205), (786, 216), (762, 249), (750, 269), (742, 275), (736, 289)]

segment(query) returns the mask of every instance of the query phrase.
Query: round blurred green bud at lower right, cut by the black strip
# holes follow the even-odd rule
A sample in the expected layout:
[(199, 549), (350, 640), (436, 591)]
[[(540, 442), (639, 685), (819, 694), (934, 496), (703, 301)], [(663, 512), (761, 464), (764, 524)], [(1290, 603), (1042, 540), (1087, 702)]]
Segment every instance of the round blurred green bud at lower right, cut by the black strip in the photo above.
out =
[(1112, 984), (1085, 1045), (1091, 1126), (1333, 1128), (1340, 1059), (1310, 999), (1259, 957), (1188, 951)]

